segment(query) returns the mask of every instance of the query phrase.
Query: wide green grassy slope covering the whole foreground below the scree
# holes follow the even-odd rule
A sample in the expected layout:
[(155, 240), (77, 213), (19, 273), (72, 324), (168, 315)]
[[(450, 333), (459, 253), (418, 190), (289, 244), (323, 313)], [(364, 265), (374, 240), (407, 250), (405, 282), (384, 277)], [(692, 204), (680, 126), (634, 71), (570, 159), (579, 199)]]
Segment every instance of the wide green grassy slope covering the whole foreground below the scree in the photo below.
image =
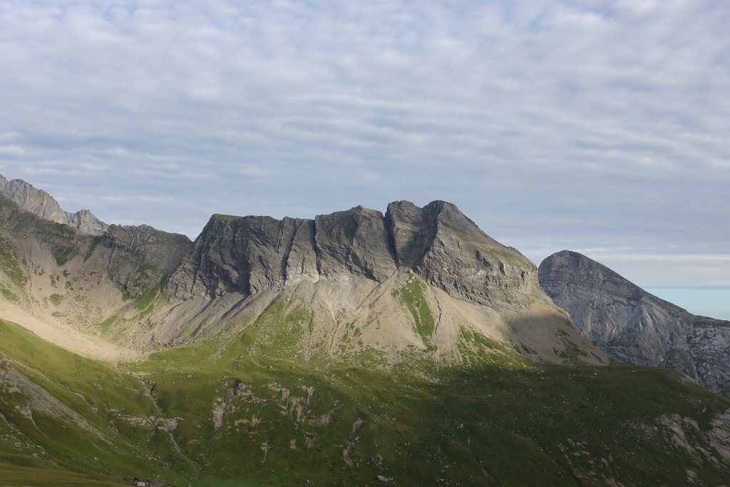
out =
[[(0, 323), (0, 350), (15, 367), (112, 441), (104, 450), (64, 433), (56, 445), (15, 414), (28, 446), (15, 446), (18, 433), (0, 421), (0, 461), (34, 467), (14, 468), (16, 478), (62, 468), (107, 481), (160, 475), (196, 486), (369, 485), (375, 475), (398, 485), (675, 484), (688, 469), (706, 485), (727, 478), (654, 429), (658, 417), (675, 413), (707, 429), (730, 407), (673, 372), (537, 365), (496, 345), (465, 369), (423, 369), (428, 357), (417, 353), (392, 372), (358, 360), (307, 362), (291, 353), (291, 335), (307, 322), (303, 310), (274, 305), (234, 340), (166, 350), (119, 372)], [(0, 394), (11, 416), (13, 398)], [(123, 415), (178, 418), (174, 437), (192, 464), (164, 432), (134, 428)], [(700, 442), (700, 434), (690, 431), (688, 440)], [(32, 445), (47, 453), (33, 456)]]

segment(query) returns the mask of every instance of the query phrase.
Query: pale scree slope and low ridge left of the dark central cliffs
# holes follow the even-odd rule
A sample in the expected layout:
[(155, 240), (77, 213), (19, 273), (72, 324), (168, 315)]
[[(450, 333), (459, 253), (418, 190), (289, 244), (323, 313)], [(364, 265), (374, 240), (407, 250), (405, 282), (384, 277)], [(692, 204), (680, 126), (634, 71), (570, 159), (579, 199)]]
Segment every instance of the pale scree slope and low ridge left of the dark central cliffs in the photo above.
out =
[(85, 234), (0, 193), (0, 318), (96, 358), (109, 356), (99, 352), (101, 336), (115, 334), (131, 350), (107, 343), (108, 350), (134, 356), (144, 350), (140, 340), (149, 340), (139, 332), (149, 326), (139, 303), (158, 294), (191, 245), (184, 235), (149, 226), (112, 225), (102, 235)]

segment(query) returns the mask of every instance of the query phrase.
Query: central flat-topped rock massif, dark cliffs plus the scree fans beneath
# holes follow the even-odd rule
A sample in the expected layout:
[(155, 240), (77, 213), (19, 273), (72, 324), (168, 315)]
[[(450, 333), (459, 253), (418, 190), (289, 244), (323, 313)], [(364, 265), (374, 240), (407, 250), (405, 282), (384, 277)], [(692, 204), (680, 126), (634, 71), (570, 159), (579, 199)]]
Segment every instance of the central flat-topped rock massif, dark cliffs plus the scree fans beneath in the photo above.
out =
[[(441, 201), (312, 220), (213, 215), (163, 293), (177, 304), (155, 330), (161, 343), (204, 340), (278, 310), (279, 322), (307, 315), (298, 337), (287, 332), (298, 340), (291, 353), (307, 359), (356, 349), (385, 363), (409, 359), (409, 350), (466, 361), (482, 356), (475, 336), (536, 361), (607, 358), (545, 296), (531, 261)], [(348, 329), (358, 345), (346, 345)], [(270, 340), (279, 339), (257, 346)]]

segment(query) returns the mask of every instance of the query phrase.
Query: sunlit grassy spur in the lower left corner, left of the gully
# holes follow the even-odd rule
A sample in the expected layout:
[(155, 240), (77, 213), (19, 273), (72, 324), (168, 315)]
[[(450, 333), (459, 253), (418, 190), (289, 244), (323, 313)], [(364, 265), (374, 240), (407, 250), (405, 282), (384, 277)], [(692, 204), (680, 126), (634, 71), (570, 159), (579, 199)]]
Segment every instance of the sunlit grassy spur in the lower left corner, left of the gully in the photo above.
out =
[[(158, 412), (137, 378), (66, 352), (1, 320), (0, 359), (6, 361), (4, 367), (20, 372), (98, 432), (91, 434), (68, 416), (59, 421), (57, 411), (48, 412), (45, 393), (40, 399), (28, 399), (22, 387), (18, 391), (4, 383), (0, 388), (0, 411), (5, 418), (0, 421), (1, 463), (91, 473), (105, 480), (135, 472), (181, 478), (173, 471), (185, 462), (174, 452), (169, 435), (150, 421)], [(32, 474), (39, 475), (38, 471)]]

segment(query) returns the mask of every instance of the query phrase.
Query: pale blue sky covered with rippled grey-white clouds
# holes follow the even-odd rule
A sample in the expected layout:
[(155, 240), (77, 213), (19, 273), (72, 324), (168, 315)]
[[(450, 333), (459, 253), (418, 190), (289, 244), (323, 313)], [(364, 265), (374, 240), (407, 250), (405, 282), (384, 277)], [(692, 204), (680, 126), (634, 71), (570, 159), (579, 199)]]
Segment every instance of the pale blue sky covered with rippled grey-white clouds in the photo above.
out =
[(729, 25), (718, 0), (2, 0), (0, 174), (193, 239), (442, 199), (730, 319)]

